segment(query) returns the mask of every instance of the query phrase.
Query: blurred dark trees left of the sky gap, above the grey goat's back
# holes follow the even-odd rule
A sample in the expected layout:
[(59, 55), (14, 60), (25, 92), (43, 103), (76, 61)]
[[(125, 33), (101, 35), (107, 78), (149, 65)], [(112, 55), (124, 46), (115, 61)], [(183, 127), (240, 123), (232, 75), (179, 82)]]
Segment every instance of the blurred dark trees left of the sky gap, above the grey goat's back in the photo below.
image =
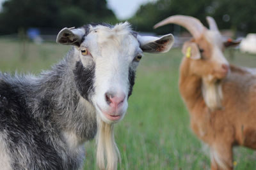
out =
[(62, 28), (88, 22), (116, 22), (106, 0), (8, 0), (0, 13), (0, 34), (20, 27)]

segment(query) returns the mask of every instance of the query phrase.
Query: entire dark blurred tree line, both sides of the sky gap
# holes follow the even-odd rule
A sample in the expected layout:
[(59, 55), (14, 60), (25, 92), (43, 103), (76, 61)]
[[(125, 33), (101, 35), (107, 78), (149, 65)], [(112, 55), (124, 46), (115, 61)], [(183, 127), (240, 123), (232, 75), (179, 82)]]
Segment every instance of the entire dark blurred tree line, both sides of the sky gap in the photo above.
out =
[[(158, 0), (140, 6), (129, 22), (138, 31), (164, 34), (179, 31), (180, 27), (166, 25), (153, 30), (153, 25), (177, 14), (196, 17), (204, 25), (205, 17), (212, 16), (220, 29), (256, 31), (255, 0)], [(106, 0), (8, 0), (0, 13), (0, 34), (12, 34), (20, 28), (61, 29), (90, 22), (115, 24), (118, 20)]]

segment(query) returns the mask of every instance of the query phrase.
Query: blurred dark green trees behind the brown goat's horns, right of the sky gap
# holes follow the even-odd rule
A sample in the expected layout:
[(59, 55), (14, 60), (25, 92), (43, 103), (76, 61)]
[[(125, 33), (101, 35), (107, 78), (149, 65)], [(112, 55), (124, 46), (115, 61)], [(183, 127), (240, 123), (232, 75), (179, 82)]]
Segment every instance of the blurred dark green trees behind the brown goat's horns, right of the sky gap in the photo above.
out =
[(129, 21), (140, 31), (158, 34), (179, 32), (177, 25), (165, 25), (153, 30), (153, 25), (171, 15), (190, 15), (207, 26), (205, 17), (212, 16), (220, 29), (233, 31), (256, 31), (255, 0), (159, 0), (140, 6)]

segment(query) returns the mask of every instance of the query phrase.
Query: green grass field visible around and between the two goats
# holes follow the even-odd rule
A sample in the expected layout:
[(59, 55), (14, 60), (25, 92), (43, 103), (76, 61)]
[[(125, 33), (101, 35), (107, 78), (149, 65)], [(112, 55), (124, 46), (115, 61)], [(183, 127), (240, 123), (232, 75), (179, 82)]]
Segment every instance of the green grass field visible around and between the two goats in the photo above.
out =
[[(22, 57), (22, 46), (0, 39), (1, 71), (38, 74), (70, 48), (55, 43), (26, 43), (26, 57)], [(235, 55), (232, 63), (256, 67), (255, 55)], [(161, 55), (145, 53), (141, 60), (127, 115), (115, 125), (122, 155), (118, 169), (209, 169), (209, 152), (189, 129), (189, 114), (179, 96), (181, 57), (180, 49), (175, 48)], [(256, 169), (255, 151), (239, 147), (234, 153), (235, 169)], [(86, 143), (84, 169), (96, 169), (94, 140)]]

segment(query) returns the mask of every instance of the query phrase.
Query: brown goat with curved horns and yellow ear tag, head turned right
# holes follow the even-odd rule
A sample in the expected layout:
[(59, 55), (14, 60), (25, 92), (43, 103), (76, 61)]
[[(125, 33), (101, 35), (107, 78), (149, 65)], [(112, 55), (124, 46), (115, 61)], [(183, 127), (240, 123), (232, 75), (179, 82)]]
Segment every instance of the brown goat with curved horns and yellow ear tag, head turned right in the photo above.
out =
[[(229, 65), (213, 18), (210, 29), (194, 17), (175, 15), (155, 25), (178, 24), (193, 39), (182, 46), (179, 90), (191, 129), (211, 148), (211, 169), (232, 169), (232, 147), (256, 149), (256, 75)], [(232, 44), (232, 43), (231, 43)]]

